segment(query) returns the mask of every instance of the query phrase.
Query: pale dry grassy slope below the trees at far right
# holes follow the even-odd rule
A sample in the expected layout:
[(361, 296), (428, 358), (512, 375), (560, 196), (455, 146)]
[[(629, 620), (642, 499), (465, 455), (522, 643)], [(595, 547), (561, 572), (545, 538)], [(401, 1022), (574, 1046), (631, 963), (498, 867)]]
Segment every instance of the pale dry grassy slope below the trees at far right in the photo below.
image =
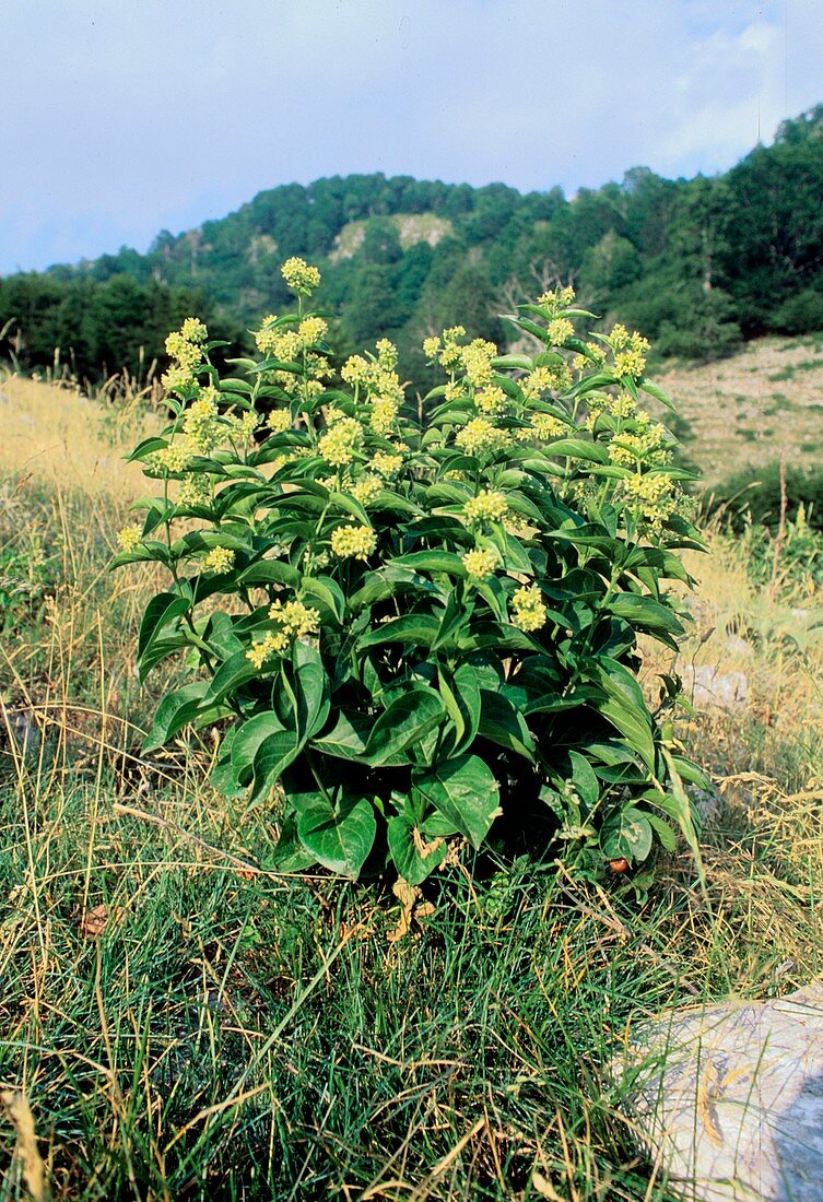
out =
[(823, 334), (761, 339), (727, 359), (655, 379), (691, 424), (694, 441), (685, 451), (708, 486), (749, 465), (819, 458)]

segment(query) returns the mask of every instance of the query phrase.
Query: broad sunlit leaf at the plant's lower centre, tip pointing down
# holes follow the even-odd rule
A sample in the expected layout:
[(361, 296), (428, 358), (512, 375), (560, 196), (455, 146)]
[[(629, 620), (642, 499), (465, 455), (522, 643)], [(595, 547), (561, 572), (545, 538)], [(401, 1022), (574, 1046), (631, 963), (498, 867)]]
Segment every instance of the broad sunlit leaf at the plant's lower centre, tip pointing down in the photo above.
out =
[(500, 785), (479, 756), (461, 755), (412, 773), (412, 789), (479, 847), (500, 810)]

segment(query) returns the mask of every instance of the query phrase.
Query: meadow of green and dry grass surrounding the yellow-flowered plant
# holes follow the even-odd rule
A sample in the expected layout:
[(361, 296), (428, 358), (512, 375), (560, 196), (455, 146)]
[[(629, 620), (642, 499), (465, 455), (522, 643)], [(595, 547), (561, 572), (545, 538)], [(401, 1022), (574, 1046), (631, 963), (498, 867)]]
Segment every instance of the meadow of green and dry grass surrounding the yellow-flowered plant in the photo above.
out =
[(208, 730), (141, 754), (177, 670), (138, 685), (156, 567), (108, 564), (151, 411), (8, 377), (0, 412), (0, 1200), (668, 1198), (609, 1061), (664, 1006), (823, 972), (809, 557), (715, 518), (684, 647), (645, 647), (649, 696), (747, 682), (678, 719), (703, 886), (685, 847), (639, 893), (484, 853), (398, 895), (273, 870), (276, 816), (207, 784)]

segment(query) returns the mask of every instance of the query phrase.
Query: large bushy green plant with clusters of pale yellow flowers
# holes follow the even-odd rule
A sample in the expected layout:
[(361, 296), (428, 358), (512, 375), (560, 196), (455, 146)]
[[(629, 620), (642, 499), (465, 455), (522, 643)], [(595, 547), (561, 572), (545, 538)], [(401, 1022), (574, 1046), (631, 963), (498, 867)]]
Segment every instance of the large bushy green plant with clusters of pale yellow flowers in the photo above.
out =
[(172, 419), (132, 453), (162, 482), (115, 564), (171, 583), (138, 639), (143, 678), (184, 653), (147, 749), (226, 720), (215, 784), (279, 798), (275, 861), (419, 883), (454, 840), (517, 829), (619, 867), (694, 845), (676, 754), (637, 679), (638, 635), (682, 633), (663, 582), (699, 546), (673, 436), (640, 407), (648, 344), (584, 341), (571, 290), (511, 320), (499, 355), (427, 339), (443, 382), (411, 403), (382, 340), (339, 371), (320, 282), (220, 376), (202, 322), (169, 335)]

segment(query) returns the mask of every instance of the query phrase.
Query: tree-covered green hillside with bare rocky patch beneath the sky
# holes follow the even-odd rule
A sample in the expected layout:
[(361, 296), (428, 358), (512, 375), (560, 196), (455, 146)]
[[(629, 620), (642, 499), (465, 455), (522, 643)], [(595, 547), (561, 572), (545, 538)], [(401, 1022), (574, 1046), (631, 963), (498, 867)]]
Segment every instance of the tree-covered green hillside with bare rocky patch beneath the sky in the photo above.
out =
[[(722, 175), (622, 183), (565, 197), (382, 174), (261, 192), (237, 213), (147, 255), (123, 249), (77, 266), (0, 280), (0, 356), (53, 361), (80, 376), (135, 370), (184, 313), (243, 341), (288, 305), (280, 263), (320, 266), (318, 303), (342, 345), (388, 335), (423, 379), (422, 339), (459, 320), (505, 343), (500, 314), (573, 284), (608, 326), (642, 329), (661, 355), (720, 356), (767, 333), (823, 328), (823, 105), (785, 123)], [(216, 325), (215, 325), (216, 322)]]

